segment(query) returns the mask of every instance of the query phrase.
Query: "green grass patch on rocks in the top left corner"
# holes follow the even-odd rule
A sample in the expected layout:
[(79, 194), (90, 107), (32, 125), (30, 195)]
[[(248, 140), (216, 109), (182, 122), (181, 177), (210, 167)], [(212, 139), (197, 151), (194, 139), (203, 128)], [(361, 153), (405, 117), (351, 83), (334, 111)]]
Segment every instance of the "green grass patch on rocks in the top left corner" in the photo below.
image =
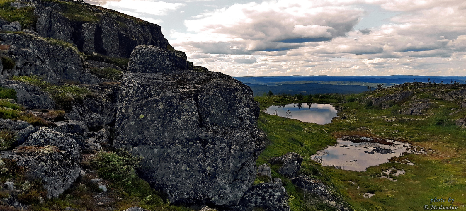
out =
[(19, 21), (21, 28), (29, 28), (35, 26), (36, 17), (34, 16), (34, 7), (23, 7), (16, 9), (10, 7), (14, 0), (0, 0), (0, 18), (9, 22)]

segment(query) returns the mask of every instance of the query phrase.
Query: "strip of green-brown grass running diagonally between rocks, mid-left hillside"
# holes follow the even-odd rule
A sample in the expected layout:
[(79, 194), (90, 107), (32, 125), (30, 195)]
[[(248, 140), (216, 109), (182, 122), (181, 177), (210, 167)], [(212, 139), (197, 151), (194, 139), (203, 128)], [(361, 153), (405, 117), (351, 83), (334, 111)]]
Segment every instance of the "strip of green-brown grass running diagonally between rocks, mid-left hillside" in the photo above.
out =
[(47, 91), (55, 99), (55, 103), (65, 110), (71, 109), (73, 101), (83, 100), (84, 97), (92, 95), (92, 92), (87, 88), (67, 84), (54, 85), (42, 81), (42, 78), (39, 76), (13, 76), (12, 80), (28, 82), (41, 88), (43, 91)]

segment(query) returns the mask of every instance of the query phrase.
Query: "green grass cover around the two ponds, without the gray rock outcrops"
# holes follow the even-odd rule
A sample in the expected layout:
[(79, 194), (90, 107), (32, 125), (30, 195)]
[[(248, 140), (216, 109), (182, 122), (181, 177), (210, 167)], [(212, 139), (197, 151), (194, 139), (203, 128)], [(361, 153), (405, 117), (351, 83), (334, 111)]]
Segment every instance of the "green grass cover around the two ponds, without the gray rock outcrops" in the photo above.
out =
[[(443, 89), (451, 90), (451, 87), (446, 86), (448, 85)], [(439, 88), (434, 87), (434, 89)], [(383, 95), (384, 92), (392, 93), (393, 89), (382, 89), (370, 95)], [(347, 102), (338, 104), (346, 108), (339, 113), (339, 116), (346, 116), (347, 119), (336, 118), (333, 123), (326, 125), (302, 123), (261, 112), (259, 125), (266, 131), (270, 144), (260, 155), (258, 164), (267, 162), (269, 157), (291, 151), (297, 152), (304, 157), (302, 172), (314, 174), (324, 183), (335, 187), (335, 190), (340, 191), (349, 204), (358, 211), (411, 211), (421, 210), (424, 205), (450, 205), (448, 202), (429, 204), (430, 199), (434, 197), (447, 199), (452, 197), (455, 199), (453, 204), (460, 206), (459, 210), (465, 209), (466, 129), (454, 125), (453, 120), (465, 116), (466, 111), (449, 116), (450, 109), (459, 108), (458, 102), (434, 98), (429, 90), (420, 91), (416, 95), (432, 98), (437, 106), (433, 106), (427, 116), (407, 116), (392, 115), (391, 109), (366, 107), (362, 103)], [(262, 109), (272, 104), (294, 102), (293, 99), (283, 99), (281, 96), (255, 99), (260, 102)], [(387, 122), (387, 119), (393, 119), (394, 122)], [(360, 127), (366, 129), (359, 129)], [(404, 140), (426, 149), (433, 149), (434, 152), (429, 152), (427, 155), (405, 155), (404, 158), (416, 164), (414, 166), (384, 163), (370, 167), (365, 172), (322, 167), (310, 160), (310, 155), (316, 150), (335, 144), (336, 134), (354, 132)], [(373, 177), (391, 167), (404, 169), (406, 174), (399, 176), (397, 182)], [(272, 169), (277, 170), (278, 166), (273, 166)], [(273, 174), (280, 177), (276, 172)], [(357, 185), (351, 182), (356, 182)], [(296, 198), (290, 201), (292, 210), (315, 208), (315, 205), (303, 205), (302, 193), (295, 190), (291, 184), (286, 185), (286, 188), (290, 195)], [(375, 196), (363, 198), (362, 195), (367, 192), (374, 192)]]

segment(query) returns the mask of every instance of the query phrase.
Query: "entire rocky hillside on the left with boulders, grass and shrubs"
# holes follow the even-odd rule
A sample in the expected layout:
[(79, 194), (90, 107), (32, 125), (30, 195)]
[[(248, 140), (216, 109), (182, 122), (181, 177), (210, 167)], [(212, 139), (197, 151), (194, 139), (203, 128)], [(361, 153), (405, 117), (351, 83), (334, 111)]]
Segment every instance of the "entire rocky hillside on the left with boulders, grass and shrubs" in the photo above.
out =
[(113, 10), (0, 7), (0, 210), (289, 210), (249, 87)]

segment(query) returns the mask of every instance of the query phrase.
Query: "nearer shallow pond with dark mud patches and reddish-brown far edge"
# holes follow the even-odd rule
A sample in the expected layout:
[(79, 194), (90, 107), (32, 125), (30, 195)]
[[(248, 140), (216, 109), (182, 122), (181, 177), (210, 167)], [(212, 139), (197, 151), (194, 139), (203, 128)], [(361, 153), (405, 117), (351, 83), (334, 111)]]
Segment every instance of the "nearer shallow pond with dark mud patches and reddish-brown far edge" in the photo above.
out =
[[(359, 141), (371, 141), (361, 137)], [(400, 157), (403, 153), (412, 153), (409, 143), (385, 140), (390, 145), (374, 142), (354, 143), (348, 139), (339, 138), (335, 146), (317, 151), (311, 159), (325, 166), (336, 166), (343, 170), (365, 171), (369, 166), (387, 163), (392, 157)]]

